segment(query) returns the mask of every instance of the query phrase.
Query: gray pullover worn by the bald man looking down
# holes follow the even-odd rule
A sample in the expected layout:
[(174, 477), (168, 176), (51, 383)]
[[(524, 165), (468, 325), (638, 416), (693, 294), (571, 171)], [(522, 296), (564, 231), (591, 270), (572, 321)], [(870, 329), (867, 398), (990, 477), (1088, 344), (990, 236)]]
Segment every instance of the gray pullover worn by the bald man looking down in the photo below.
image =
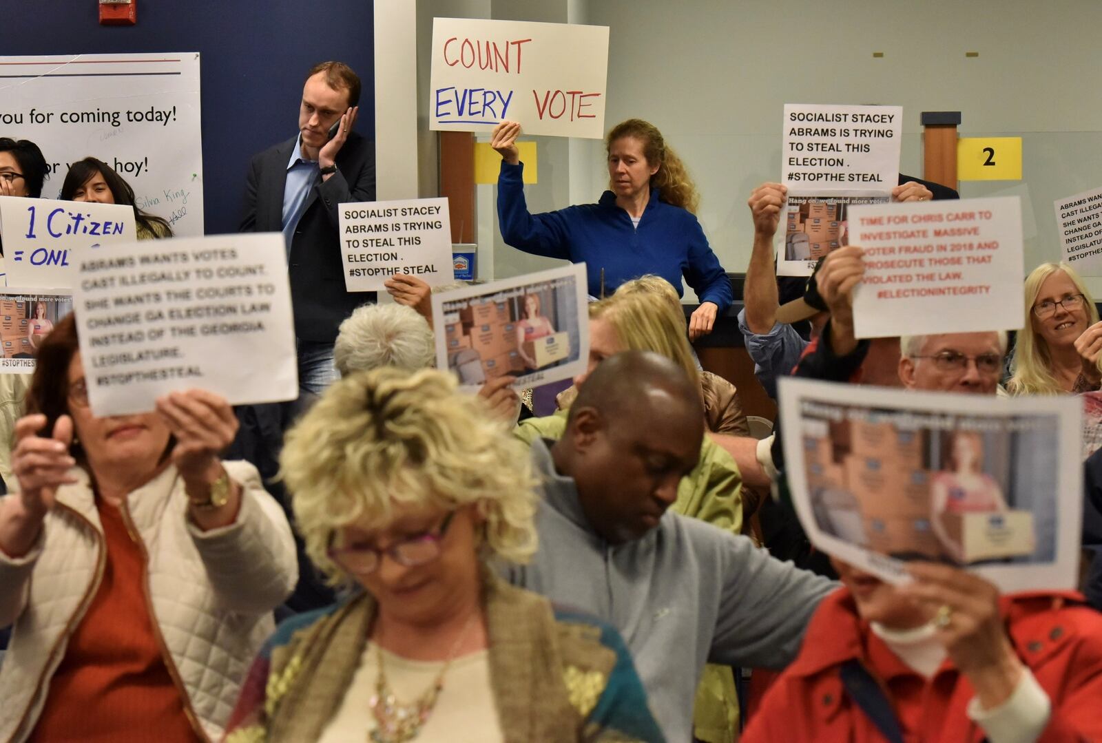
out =
[(692, 740), (696, 683), (706, 663), (784, 668), (820, 600), (836, 584), (703, 521), (667, 512), (622, 545), (585, 518), (573, 478), (532, 443), (543, 502), (540, 547), (506, 573), (511, 583), (594, 614), (624, 636), (667, 740)]

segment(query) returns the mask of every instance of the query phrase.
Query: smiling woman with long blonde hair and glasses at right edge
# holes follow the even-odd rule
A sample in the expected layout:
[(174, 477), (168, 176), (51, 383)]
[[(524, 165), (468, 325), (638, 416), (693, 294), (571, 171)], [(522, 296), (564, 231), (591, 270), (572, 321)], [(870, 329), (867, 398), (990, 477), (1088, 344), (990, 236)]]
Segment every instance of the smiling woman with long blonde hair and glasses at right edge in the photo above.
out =
[(1102, 387), (1102, 323), (1071, 266), (1041, 263), (1026, 277), (1025, 327), (1011, 357), (1011, 395), (1067, 395)]

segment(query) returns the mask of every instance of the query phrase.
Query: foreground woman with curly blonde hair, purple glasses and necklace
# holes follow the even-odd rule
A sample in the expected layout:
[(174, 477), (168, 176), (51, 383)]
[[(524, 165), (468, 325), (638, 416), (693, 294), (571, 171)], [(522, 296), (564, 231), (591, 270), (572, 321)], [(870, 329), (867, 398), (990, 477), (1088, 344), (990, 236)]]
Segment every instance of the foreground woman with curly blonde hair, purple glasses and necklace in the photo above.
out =
[(336, 383), (283, 477), (331, 609), (284, 622), (228, 741), (661, 740), (623, 639), (487, 567), (537, 545), (529, 459), (442, 372)]

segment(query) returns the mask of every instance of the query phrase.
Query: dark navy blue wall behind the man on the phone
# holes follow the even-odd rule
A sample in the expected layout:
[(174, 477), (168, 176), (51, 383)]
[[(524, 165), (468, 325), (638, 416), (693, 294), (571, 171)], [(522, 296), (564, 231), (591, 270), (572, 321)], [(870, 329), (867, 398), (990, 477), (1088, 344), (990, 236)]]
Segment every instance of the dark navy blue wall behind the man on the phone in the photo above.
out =
[(236, 231), (249, 158), (296, 133), (302, 82), (313, 64), (341, 60), (359, 74), (356, 130), (375, 138), (370, 0), (138, 0), (133, 26), (99, 25), (96, 0), (7, 6), (0, 55), (202, 54), (207, 234)]

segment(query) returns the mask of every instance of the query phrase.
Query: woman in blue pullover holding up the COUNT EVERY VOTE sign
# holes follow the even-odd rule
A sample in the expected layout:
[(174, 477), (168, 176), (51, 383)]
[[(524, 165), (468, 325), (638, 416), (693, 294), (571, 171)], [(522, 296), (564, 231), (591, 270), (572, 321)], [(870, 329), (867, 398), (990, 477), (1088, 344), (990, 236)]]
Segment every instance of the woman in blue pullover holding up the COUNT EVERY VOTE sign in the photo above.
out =
[(598, 299), (644, 273), (662, 277), (680, 297), (684, 277), (700, 299), (690, 338), (711, 333), (731, 306), (731, 281), (696, 220), (696, 187), (661, 132), (641, 119), (613, 127), (605, 138), (612, 190), (596, 204), (544, 214), (528, 212), (519, 134), (519, 123), (503, 121), (490, 141), (501, 154), (497, 214), (505, 241), (537, 256), (584, 261), (590, 294)]

